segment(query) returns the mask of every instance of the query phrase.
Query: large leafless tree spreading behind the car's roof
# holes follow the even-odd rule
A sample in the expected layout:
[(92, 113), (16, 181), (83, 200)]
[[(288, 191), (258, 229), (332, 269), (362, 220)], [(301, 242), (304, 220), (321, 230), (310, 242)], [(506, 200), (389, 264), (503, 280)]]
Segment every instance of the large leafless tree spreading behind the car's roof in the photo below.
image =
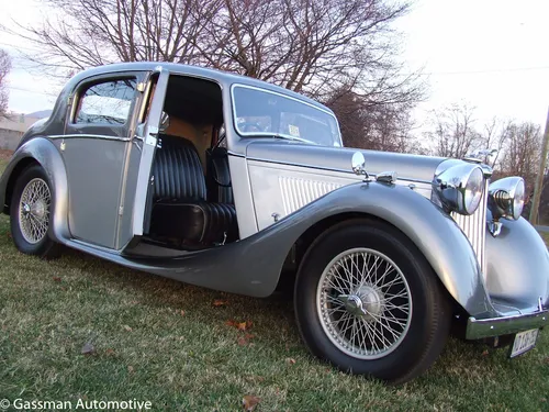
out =
[[(403, 0), (405, 1), (405, 0)], [(416, 101), (395, 60), (392, 0), (44, 0), (52, 14), (16, 34), (61, 75), (113, 62), (201, 64), (326, 99), (346, 85), (369, 102)], [(57, 12), (63, 12), (55, 18)], [(4, 27), (4, 30), (7, 30)]]

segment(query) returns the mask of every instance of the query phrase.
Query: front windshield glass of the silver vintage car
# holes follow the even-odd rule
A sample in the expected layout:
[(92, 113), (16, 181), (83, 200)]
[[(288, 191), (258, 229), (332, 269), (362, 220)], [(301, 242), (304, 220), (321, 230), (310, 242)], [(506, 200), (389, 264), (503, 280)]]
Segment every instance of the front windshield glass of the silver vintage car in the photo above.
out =
[(269, 136), (341, 146), (335, 116), (304, 101), (247, 86), (233, 87), (234, 121), (242, 136)]

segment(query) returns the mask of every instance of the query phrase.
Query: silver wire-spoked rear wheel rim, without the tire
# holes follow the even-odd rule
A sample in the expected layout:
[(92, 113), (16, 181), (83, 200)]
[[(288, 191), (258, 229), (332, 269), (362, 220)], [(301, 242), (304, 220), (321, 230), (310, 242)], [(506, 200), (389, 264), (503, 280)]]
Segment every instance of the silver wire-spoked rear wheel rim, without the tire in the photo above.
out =
[(32, 179), (23, 189), (19, 203), (19, 227), (26, 242), (36, 244), (46, 236), (51, 201), (49, 188), (41, 178)]

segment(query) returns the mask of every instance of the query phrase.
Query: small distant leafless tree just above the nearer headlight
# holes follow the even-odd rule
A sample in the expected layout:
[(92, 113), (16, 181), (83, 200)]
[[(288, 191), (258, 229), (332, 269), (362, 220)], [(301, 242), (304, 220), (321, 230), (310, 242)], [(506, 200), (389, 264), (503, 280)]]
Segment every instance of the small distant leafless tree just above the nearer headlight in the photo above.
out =
[(462, 158), (482, 145), (475, 129), (474, 108), (467, 103), (451, 104), (432, 113), (433, 131), (425, 133), (435, 145), (435, 155)]

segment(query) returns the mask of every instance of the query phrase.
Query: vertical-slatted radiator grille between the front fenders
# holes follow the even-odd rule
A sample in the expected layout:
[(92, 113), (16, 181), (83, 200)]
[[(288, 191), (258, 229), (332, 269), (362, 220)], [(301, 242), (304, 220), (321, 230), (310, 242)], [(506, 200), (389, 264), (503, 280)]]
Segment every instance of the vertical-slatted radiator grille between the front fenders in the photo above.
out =
[(488, 185), (484, 186), (484, 194), (477, 211), (464, 216), (462, 214), (452, 213), (451, 216), (461, 227), (463, 233), (469, 238), (469, 242), (473, 246), (473, 250), (477, 254), (477, 259), (482, 270), (482, 275), (486, 276), (486, 258), (484, 253), (484, 245), (486, 241), (486, 208), (488, 208)]

